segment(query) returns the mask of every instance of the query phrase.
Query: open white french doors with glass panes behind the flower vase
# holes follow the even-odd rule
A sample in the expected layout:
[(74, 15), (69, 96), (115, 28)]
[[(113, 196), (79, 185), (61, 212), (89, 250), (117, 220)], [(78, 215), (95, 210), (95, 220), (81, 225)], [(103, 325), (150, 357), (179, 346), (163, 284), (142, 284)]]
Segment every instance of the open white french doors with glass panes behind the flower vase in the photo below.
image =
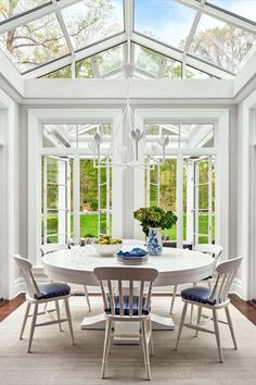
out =
[(171, 157), (155, 166), (148, 157), (145, 204), (176, 212), (177, 224), (162, 235), (178, 247), (214, 243), (215, 157)]

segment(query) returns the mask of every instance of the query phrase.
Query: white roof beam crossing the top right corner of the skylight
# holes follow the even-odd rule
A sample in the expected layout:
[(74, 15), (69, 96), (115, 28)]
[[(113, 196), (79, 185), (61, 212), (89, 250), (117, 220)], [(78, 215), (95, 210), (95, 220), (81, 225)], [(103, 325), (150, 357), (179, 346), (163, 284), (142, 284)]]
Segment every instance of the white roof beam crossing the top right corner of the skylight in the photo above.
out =
[(201, 3), (194, 0), (175, 0), (183, 5), (188, 5), (193, 8), (196, 11), (203, 11), (203, 13), (207, 14), (208, 16), (213, 16), (215, 18), (220, 20), (221, 22), (233, 24), (236, 27), (246, 29), (249, 33), (256, 34), (256, 25), (255, 23), (246, 22), (244, 18), (239, 16), (233, 16), (228, 11), (221, 11), (220, 9), (216, 9), (205, 3)]

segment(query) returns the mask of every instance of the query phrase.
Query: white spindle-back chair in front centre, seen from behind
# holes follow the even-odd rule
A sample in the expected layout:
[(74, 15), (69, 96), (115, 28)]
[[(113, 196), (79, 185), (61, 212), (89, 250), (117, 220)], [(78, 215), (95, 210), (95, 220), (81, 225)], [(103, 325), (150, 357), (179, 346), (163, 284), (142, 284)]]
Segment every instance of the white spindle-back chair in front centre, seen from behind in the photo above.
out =
[[(104, 311), (106, 313), (105, 341), (102, 360), (102, 378), (105, 376), (112, 325), (115, 321), (141, 323), (141, 343), (148, 380), (151, 378), (149, 344), (152, 343), (151, 295), (152, 284), (158, 275), (157, 270), (149, 268), (95, 268), (100, 281)], [(153, 343), (151, 345), (153, 351)]]

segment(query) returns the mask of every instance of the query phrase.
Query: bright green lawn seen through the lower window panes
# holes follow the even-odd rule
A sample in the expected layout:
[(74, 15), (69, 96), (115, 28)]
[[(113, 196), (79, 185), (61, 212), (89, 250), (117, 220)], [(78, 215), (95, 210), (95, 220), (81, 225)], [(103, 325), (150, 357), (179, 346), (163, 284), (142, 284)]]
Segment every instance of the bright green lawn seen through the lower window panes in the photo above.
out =
[[(73, 221), (74, 218), (73, 215), (71, 216), (71, 236), (73, 237)], [(174, 225), (171, 228), (163, 231), (163, 235), (166, 237), (169, 237), (170, 240), (176, 239), (176, 227), (177, 225)], [(207, 227), (208, 227), (208, 216), (207, 215), (200, 215), (200, 233), (201, 234), (207, 234)], [(48, 219), (48, 229), (51, 231), (52, 233), (55, 233), (56, 228), (56, 216), (51, 215)], [(213, 220), (213, 228), (215, 234), (215, 221)], [(185, 239), (185, 231), (187, 231), (187, 215), (183, 215), (183, 239)], [(101, 215), (101, 232), (105, 234), (106, 232), (106, 215), (102, 214)], [(49, 232), (50, 233), (50, 232)], [(88, 237), (88, 236), (93, 236), (97, 237), (98, 234), (98, 214), (81, 214), (80, 215), (80, 236), (81, 238)], [(201, 243), (207, 243), (207, 237), (200, 237)]]

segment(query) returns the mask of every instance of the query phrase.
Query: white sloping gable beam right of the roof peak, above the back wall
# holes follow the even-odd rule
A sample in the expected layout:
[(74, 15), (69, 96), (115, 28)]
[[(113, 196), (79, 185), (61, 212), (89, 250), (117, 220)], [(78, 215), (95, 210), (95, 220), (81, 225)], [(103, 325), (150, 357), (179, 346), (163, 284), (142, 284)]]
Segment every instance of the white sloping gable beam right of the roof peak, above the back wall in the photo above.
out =
[[(133, 33), (131, 38), (132, 41), (138, 45), (152, 49), (153, 51), (162, 53), (170, 59), (182, 62), (183, 53), (175, 50), (174, 48), (167, 47), (162, 42), (157, 42), (155, 40), (150, 39), (149, 37), (142, 36), (137, 33)], [(214, 64), (212, 65), (205, 63), (204, 61), (196, 58), (187, 55), (187, 64), (216, 77), (233, 78), (233, 75), (230, 74), (229, 72), (218, 69)]]

